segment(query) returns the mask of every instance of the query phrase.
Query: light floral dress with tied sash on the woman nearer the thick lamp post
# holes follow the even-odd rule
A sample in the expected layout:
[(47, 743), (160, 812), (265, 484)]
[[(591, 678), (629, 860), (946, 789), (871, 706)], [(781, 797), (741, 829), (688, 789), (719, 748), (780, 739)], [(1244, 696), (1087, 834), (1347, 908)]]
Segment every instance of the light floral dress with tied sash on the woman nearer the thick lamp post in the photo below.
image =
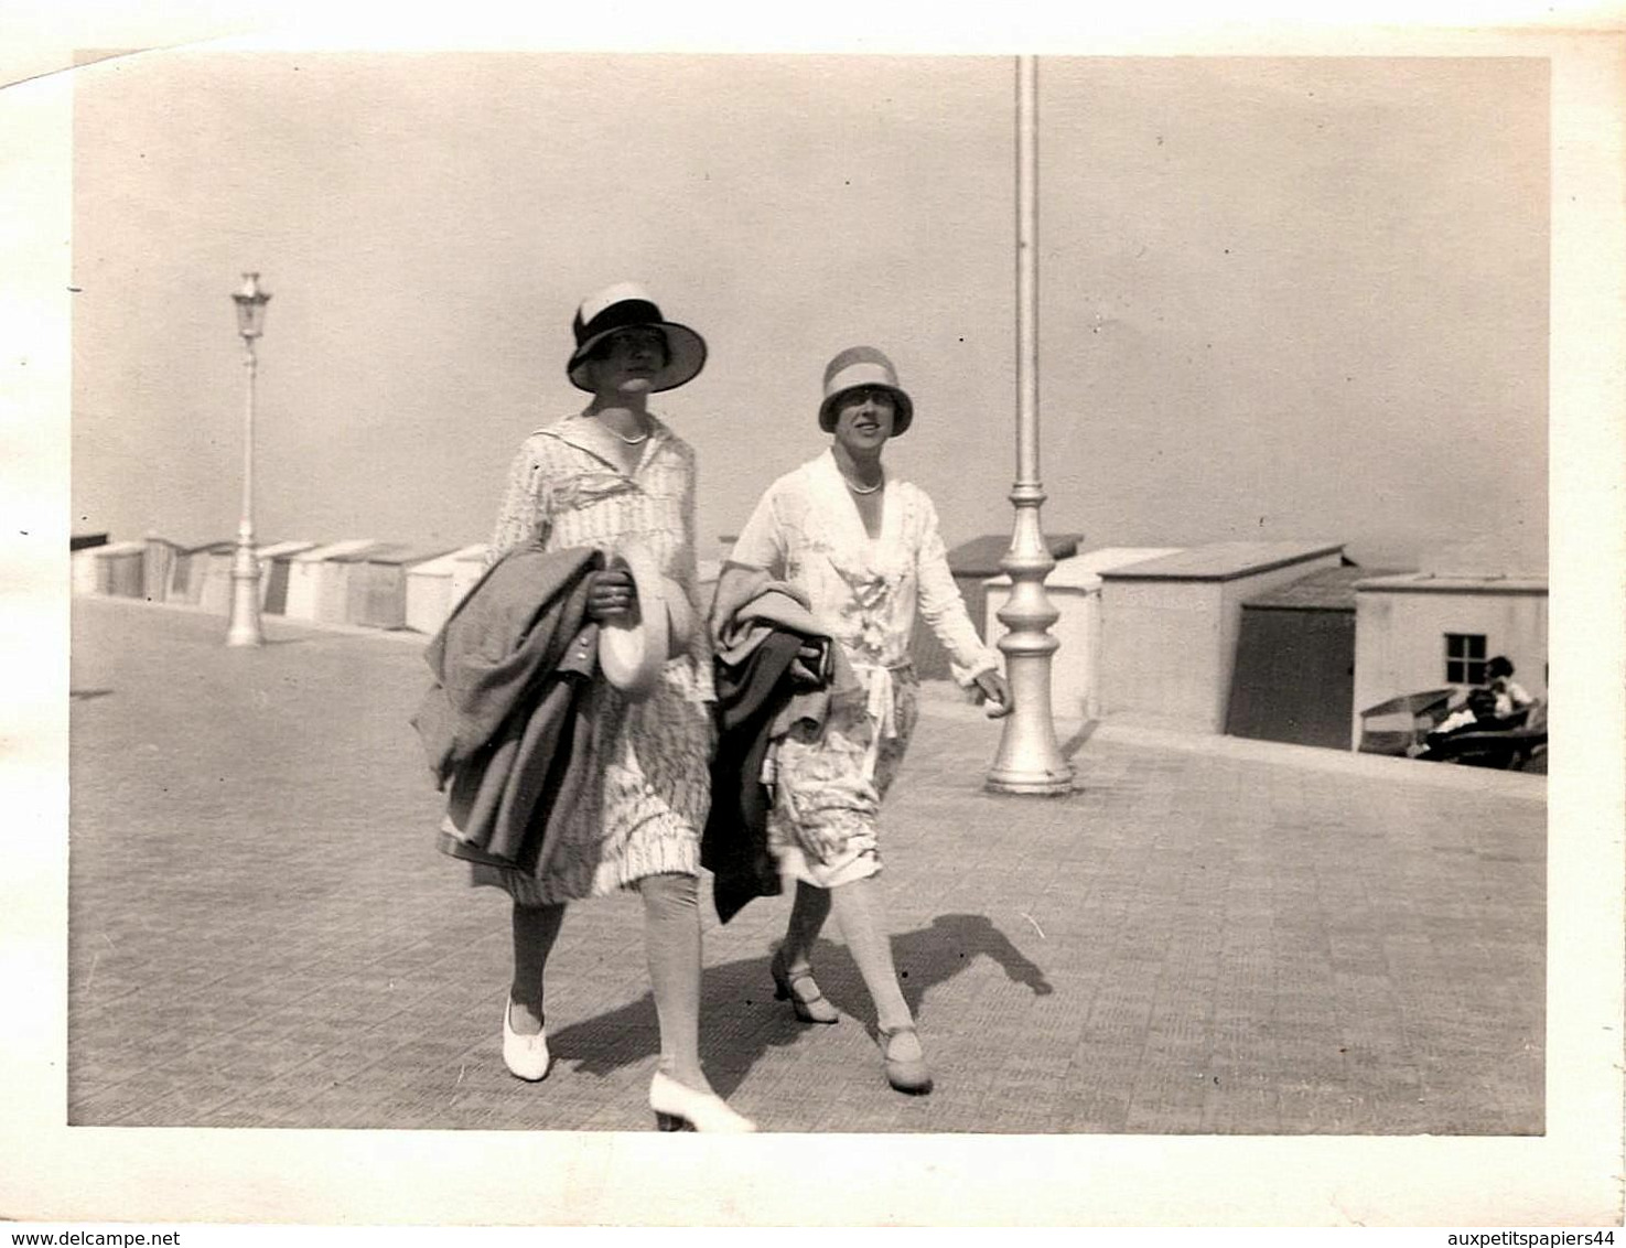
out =
[(998, 669), (966, 615), (937, 509), (924, 490), (888, 477), (881, 534), (872, 539), (826, 451), (767, 488), (730, 561), (802, 589), (863, 683), (863, 698), (833, 700), (820, 729), (800, 726), (779, 745), (769, 848), (780, 872), (823, 888), (873, 875), (881, 797), (919, 718), (909, 661), (915, 613), (959, 683)]

